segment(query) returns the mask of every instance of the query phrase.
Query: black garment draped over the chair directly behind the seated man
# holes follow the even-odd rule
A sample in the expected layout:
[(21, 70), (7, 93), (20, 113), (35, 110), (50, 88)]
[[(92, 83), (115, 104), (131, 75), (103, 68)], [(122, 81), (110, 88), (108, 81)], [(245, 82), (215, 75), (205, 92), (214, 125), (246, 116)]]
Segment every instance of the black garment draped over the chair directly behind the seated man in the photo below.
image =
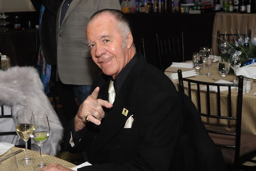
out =
[(178, 140), (174, 171), (226, 171), (221, 150), (208, 135), (194, 103), (182, 91), (182, 134)]

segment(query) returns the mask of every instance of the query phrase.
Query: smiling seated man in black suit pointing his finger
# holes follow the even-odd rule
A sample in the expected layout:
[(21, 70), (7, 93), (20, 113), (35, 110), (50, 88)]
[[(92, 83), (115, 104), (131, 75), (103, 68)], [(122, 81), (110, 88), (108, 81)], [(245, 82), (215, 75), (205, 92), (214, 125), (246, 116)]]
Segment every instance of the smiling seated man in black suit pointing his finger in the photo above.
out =
[[(78, 171), (169, 171), (182, 126), (174, 84), (135, 52), (121, 11), (96, 12), (86, 37), (103, 74), (71, 122), (67, 146), (93, 164)], [(69, 169), (52, 164), (42, 170)]]

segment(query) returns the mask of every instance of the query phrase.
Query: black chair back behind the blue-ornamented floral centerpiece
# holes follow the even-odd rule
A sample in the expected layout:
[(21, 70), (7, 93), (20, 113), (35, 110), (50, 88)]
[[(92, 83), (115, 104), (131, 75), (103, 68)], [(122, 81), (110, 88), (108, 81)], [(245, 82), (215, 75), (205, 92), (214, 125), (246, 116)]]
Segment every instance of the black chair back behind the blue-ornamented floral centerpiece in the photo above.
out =
[(252, 36), (252, 30), (248, 30), (248, 34), (247, 33), (240, 33), (240, 34), (232, 34), (232, 33), (220, 33), (219, 30), (217, 30), (217, 36), (218, 36), (218, 49), (219, 49), (219, 54), (221, 53), (221, 44), (223, 44), (224, 42), (228, 42), (231, 44), (234, 44), (236, 40), (238, 40), (239, 38), (246, 38), (248, 37), (249, 39), (251, 39)]

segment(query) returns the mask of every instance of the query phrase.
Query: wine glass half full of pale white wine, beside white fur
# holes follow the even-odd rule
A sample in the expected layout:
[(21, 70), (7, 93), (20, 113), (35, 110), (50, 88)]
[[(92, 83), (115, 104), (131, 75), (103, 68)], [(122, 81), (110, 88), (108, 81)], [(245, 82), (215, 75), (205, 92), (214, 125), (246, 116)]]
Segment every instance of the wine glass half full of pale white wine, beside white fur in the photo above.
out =
[(21, 139), (25, 141), (25, 158), (19, 160), (21, 165), (32, 165), (32, 160), (28, 157), (28, 139), (30, 139), (30, 133), (35, 129), (34, 125), (30, 125), (30, 118), (33, 116), (31, 110), (19, 110), (17, 112), (16, 133)]

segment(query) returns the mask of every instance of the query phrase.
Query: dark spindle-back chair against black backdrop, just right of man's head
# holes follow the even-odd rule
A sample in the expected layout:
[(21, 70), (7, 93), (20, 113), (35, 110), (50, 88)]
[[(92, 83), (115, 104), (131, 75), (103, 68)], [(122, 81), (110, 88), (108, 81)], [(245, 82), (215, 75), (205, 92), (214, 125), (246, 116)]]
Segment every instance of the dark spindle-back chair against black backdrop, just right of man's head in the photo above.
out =
[(172, 62), (184, 62), (184, 33), (178, 36), (156, 34), (160, 70), (163, 72)]

